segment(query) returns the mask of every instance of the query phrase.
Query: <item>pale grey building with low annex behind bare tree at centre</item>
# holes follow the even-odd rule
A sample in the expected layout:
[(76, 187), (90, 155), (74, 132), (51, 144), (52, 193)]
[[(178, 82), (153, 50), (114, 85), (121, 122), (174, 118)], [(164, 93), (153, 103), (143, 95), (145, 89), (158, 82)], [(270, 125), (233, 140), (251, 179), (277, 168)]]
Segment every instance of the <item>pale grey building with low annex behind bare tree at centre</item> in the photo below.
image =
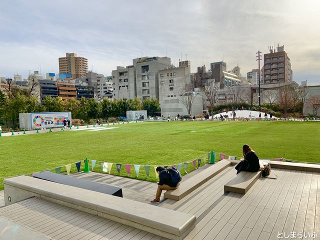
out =
[[(158, 79), (161, 115), (187, 115), (187, 109), (182, 101), (183, 94), (194, 91), (194, 80), (190, 73), (190, 61), (179, 61), (178, 67), (159, 70)], [(202, 96), (194, 94), (193, 97), (191, 114), (201, 114)]]

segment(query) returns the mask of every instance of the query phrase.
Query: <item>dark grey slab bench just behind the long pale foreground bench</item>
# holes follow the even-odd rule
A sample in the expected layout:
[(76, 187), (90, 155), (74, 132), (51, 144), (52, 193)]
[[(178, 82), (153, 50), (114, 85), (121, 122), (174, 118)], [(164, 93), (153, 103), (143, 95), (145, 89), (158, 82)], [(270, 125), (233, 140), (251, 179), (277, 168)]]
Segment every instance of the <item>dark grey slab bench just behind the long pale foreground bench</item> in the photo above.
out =
[(56, 174), (49, 171), (34, 173), (32, 176), (39, 179), (47, 180), (47, 181), (54, 181), (54, 182), (69, 185), (69, 186), (76, 186), (76, 187), (80, 187), (80, 188), (91, 190), (91, 191), (98, 191), (101, 193), (122, 197), (121, 187), (112, 186), (105, 183), (89, 181), (89, 180), (76, 178), (68, 175)]

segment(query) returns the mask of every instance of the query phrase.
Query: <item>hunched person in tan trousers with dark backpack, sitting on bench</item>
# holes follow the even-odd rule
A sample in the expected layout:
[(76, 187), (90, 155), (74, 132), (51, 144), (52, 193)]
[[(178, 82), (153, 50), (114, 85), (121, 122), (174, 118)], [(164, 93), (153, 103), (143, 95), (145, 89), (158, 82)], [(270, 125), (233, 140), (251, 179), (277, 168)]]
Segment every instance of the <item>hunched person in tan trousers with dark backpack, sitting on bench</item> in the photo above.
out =
[[(161, 166), (158, 166), (155, 169), (156, 172), (159, 174), (159, 182), (158, 182), (158, 188), (156, 190), (155, 198), (153, 200), (151, 200), (152, 203), (160, 201), (160, 196), (161, 196), (162, 190), (174, 190), (179, 186), (179, 181), (181, 180), (181, 175), (175, 167), (172, 167), (172, 169), (173, 169), (173, 171), (170, 169), (169, 170), (170, 170), (170, 172), (172, 172), (171, 174), (175, 174), (174, 176), (172, 176), (167, 169), (165, 169)], [(177, 176), (176, 176), (176, 174), (177, 174)], [(174, 178), (174, 180), (172, 180), (172, 177)], [(173, 182), (173, 181), (175, 181), (175, 182)]]

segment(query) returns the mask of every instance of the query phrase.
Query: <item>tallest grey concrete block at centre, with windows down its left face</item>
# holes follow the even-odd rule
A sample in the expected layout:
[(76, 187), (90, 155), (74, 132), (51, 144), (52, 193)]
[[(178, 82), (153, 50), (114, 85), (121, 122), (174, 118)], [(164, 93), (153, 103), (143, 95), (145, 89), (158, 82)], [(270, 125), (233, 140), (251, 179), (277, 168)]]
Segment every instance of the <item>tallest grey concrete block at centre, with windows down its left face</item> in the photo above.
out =
[(158, 71), (171, 67), (170, 57), (139, 57), (132, 61), (135, 66), (136, 96), (141, 100), (159, 99)]

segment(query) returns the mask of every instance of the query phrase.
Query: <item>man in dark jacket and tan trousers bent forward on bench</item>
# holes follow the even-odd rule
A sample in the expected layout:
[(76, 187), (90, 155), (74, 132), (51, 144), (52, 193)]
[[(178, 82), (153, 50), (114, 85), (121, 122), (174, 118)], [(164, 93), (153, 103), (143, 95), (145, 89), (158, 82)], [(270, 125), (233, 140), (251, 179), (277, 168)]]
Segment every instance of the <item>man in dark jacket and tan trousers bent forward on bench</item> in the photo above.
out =
[(174, 190), (179, 186), (179, 184), (172, 183), (171, 175), (167, 169), (158, 166), (155, 170), (159, 174), (159, 182), (155, 198), (151, 200), (152, 203), (160, 201), (162, 190)]

